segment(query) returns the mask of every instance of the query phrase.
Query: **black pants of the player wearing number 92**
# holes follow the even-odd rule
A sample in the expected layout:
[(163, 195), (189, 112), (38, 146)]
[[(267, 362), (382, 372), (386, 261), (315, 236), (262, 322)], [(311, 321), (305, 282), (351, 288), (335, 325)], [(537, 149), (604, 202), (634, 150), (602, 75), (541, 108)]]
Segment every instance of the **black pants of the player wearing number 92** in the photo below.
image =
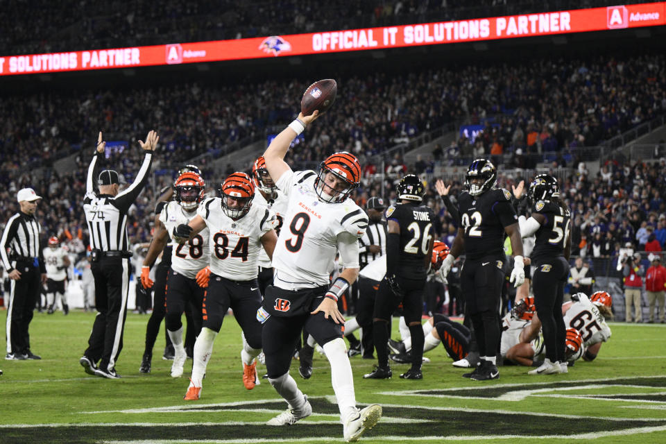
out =
[(466, 315), (470, 316), (481, 357), (499, 350), (499, 301), (502, 299), (505, 257), (497, 255), (467, 259), (460, 274)]

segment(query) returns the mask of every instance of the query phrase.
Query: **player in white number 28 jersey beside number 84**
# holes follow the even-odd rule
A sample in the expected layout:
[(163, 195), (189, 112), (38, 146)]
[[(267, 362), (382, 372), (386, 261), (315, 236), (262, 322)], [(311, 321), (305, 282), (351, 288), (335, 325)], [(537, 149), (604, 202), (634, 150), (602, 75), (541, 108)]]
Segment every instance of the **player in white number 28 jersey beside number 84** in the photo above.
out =
[[(190, 171), (178, 176), (173, 189), (176, 200), (162, 207), (159, 223), (155, 225), (153, 242), (144, 259), (144, 268), (155, 263), (178, 225), (187, 224), (196, 217), (197, 208), (203, 199), (205, 182), (197, 173)], [(193, 236), (186, 243), (174, 246), (171, 251), (171, 268), (167, 278), (169, 284), (165, 296), (167, 314), (164, 322), (173, 343), (171, 377), (182, 376), (182, 368), (187, 359), (180, 320), (187, 304), (191, 304), (195, 310), (192, 317), (196, 334), (201, 329), (201, 305), (205, 291), (196, 282), (196, 274), (208, 265), (209, 255), (207, 230)]]

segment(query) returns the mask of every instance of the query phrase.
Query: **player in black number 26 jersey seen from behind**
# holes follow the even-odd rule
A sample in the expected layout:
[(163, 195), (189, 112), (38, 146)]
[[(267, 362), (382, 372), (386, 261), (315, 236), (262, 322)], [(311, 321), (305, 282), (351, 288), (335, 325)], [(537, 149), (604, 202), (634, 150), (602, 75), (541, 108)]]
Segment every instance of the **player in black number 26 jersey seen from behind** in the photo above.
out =
[(404, 379), (422, 379), (423, 289), (432, 257), (434, 213), (420, 205), (425, 188), (421, 180), (409, 174), (400, 180), (400, 203), (386, 209), (388, 221), (386, 236), (386, 276), (379, 284), (373, 314), (373, 335), (377, 350), (378, 366), (364, 378), (388, 379), (388, 323), (391, 314), (402, 302), (404, 321), (411, 332), (411, 368), (400, 375)]

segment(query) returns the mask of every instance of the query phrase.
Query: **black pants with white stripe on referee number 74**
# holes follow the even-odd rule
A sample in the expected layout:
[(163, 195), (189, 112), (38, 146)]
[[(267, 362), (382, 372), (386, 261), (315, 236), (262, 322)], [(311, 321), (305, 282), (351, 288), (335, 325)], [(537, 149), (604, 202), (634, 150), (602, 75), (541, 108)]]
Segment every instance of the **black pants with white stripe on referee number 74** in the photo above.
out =
[(97, 316), (84, 355), (94, 363), (99, 361), (99, 368), (113, 370), (123, 349), (130, 259), (101, 257), (90, 268), (95, 279)]

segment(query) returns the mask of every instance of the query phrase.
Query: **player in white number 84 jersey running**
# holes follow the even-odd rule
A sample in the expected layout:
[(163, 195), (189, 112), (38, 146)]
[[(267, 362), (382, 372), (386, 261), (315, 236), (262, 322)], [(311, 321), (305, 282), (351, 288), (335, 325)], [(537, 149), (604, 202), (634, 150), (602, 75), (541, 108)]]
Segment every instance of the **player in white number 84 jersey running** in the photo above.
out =
[(185, 400), (198, 400), (201, 382), (213, 350), (213, 341), (228, 309), (245, 336), (241, 350), (243, 383), (248, 390), (257, 380), (255, 357), (262, 351), (262, 325), (257, 310), (262, 295), (257, 284), (257, 258), (264, 248), (273, 257), (278, 237), (277, 219), (265, 206), (254, 205), (255, 185), (246, 173), (232, 173), (223, 182), (221, 198), (206, 199), (189, 225), (179, 225), (176, 239), (191, 239), (210, 232), (210, 266), (197, 280), (207, 290), (203, 299), (203, 328), (194, 343), (194, 365)]

